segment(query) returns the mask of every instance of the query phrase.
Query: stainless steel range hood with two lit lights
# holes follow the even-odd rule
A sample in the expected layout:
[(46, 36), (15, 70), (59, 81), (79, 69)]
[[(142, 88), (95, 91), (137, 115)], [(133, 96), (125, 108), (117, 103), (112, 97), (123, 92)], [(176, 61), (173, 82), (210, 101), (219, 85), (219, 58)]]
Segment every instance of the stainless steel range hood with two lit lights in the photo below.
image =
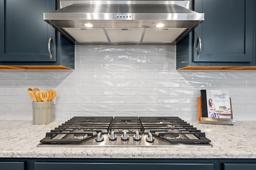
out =
[(204, 14), (189, 6), (189, 1), (64, 0), (59, 10), (44, 13), (44, 20), (76, 45), (175, 45), (204, 21)]

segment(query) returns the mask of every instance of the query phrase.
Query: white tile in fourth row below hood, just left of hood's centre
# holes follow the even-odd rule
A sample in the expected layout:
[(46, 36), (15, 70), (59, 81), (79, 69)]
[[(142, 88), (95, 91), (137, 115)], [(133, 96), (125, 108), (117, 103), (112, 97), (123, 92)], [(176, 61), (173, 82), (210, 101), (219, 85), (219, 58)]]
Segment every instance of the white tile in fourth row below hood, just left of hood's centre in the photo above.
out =
[(124, 71), (94, 71), (94, 79), (125, 79)]

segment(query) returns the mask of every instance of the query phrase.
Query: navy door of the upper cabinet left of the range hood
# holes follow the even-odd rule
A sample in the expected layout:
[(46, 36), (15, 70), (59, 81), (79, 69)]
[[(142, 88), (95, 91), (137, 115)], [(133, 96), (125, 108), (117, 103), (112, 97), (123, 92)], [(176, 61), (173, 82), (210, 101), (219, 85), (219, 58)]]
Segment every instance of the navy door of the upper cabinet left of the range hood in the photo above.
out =
[(54, 10), (54, 0), (1, 0), (0, 61), (55, 62), (55, 29), (43, 20)]

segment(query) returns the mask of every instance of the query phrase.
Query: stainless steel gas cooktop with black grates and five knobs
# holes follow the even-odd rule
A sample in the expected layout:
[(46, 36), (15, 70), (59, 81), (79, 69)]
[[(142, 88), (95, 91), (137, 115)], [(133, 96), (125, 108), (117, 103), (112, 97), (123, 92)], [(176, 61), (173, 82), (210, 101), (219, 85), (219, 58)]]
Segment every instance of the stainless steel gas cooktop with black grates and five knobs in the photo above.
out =
[(212, 147), (205, 133), (179, 117), (73, 117), (38, 147)]

